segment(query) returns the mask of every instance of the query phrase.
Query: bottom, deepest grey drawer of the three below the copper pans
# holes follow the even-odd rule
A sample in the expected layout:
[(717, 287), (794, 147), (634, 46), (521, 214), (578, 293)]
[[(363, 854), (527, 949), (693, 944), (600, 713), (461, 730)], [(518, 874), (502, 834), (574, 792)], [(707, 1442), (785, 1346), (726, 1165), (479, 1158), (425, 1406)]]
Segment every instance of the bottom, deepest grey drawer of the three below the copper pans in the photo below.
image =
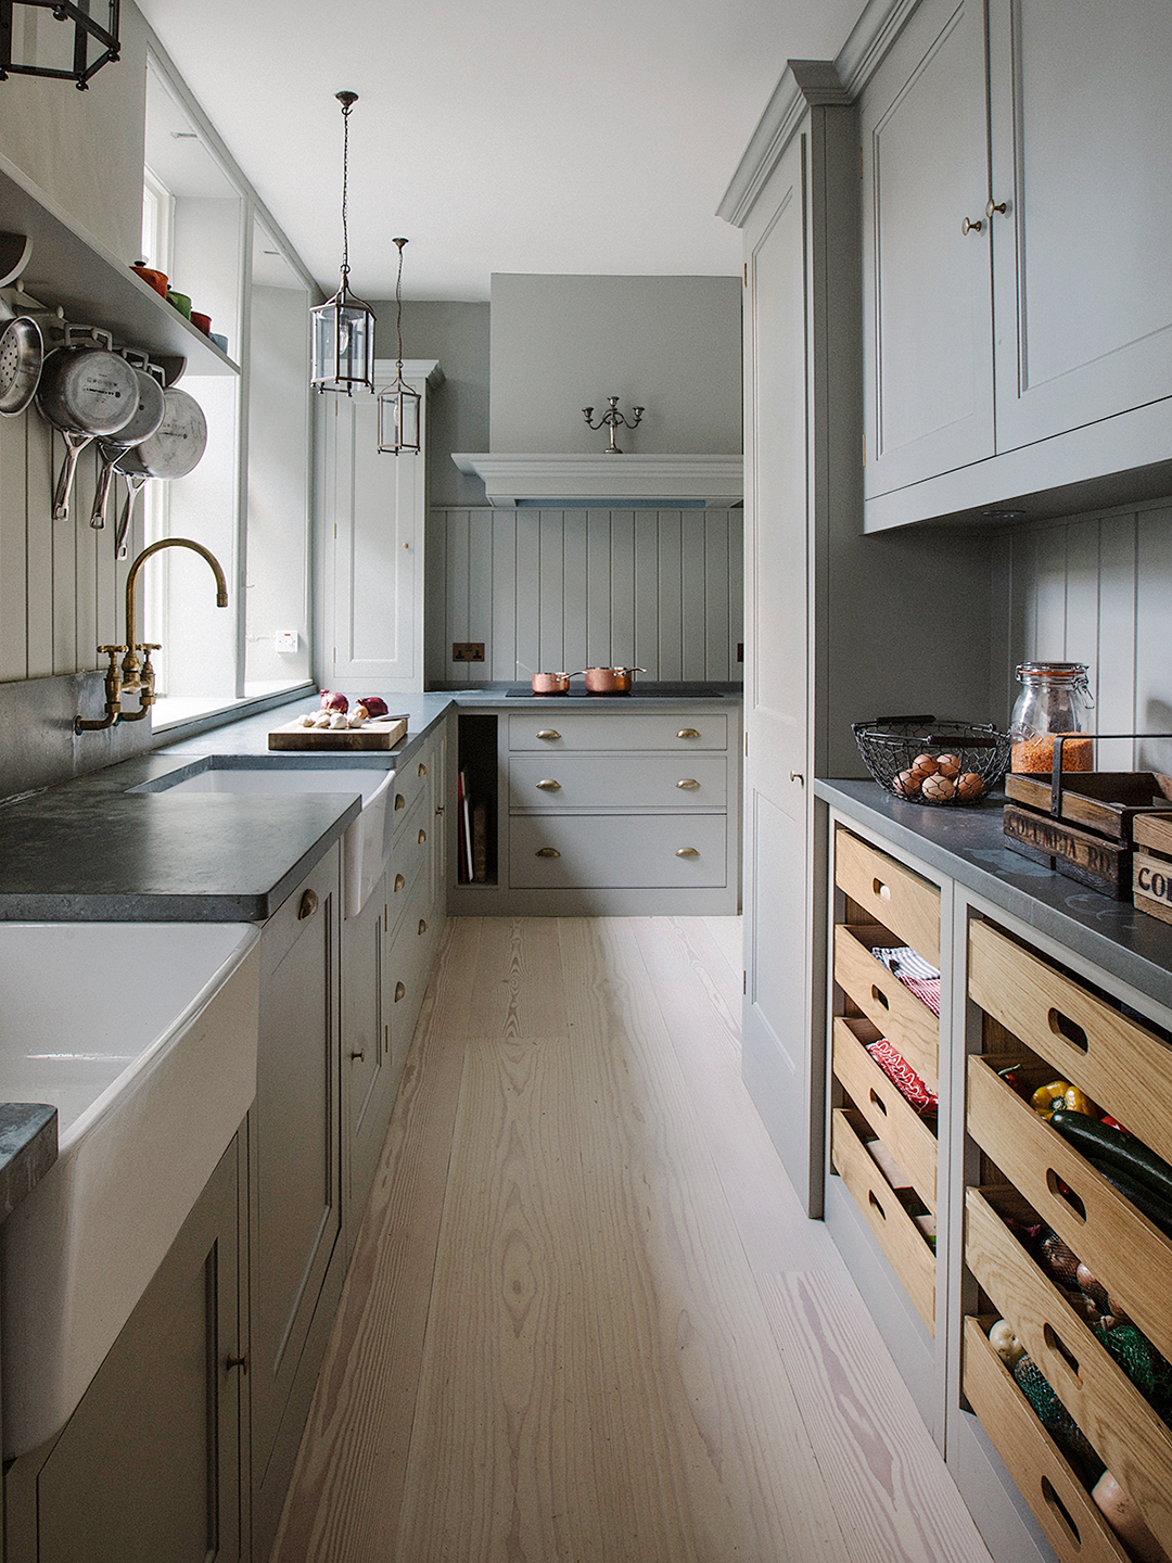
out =
[(527, 889), (724, 885), (725, 830), (724, 814), (514, 814), (509, 885)]

